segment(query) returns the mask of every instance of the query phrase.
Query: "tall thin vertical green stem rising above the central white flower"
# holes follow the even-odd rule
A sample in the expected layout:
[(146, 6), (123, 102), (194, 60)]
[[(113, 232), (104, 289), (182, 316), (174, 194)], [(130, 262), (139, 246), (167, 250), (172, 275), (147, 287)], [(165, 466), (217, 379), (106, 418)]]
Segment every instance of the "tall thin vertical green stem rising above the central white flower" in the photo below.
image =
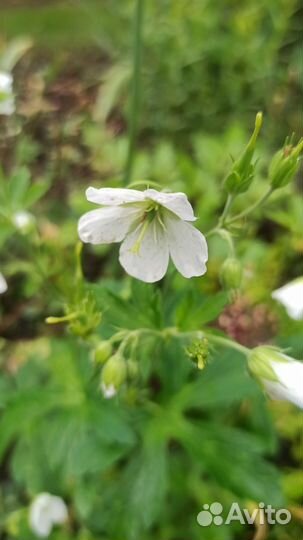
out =
[(140, 72), (142, 61), (143, 10), (144, 0), (137, 0), (136, 12), (134, 17), (133, 80), (129, 116), (129, 143), (124, 176), (124, 184), (126, 186), (129, 184), (132, 175), (135, 157), (135, 144), (138, 132), (138, 119), (140, 109)]

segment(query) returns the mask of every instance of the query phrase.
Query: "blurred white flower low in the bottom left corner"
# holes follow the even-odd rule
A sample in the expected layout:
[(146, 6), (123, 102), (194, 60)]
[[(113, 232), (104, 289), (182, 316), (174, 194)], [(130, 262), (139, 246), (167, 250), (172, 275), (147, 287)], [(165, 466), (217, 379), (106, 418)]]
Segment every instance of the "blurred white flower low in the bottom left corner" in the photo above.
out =
[(61, 525), (67, 520), (67, 506), (61, 497), (40, 493), (34, 499), (29, 511), (31, 530), (40, 538), (50, 535), (54, 525)]

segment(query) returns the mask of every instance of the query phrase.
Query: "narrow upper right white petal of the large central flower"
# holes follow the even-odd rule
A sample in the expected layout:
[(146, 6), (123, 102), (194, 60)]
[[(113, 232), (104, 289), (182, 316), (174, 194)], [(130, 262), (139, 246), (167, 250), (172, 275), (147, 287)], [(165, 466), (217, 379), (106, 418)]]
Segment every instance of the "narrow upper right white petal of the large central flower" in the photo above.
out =
[(163, 193), (155, 189), (144, 191), (145, 198), (159, 203), (185, 221), (195, 221), (192, 205), (184, 193)]

